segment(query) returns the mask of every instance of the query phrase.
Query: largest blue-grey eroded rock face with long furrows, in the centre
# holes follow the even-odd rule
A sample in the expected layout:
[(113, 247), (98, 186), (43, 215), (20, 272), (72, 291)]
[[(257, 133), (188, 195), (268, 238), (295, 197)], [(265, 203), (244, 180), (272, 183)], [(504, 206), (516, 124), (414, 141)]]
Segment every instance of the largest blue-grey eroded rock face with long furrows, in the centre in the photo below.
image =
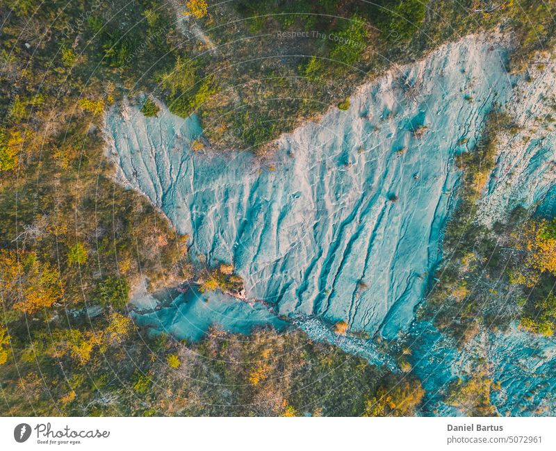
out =
[(445, 45), (361, 87), (349, 110), (284, 136), (272, 157), (192, 151), (195, 118), (131, 106), (106, 118), (109, 151), (118, 177), (188, 233), (194, 257), (234, 263), (248, 298), (392, 337), (441, 257), (455, 156), (525, 83), (506, 57), (496, 36)]

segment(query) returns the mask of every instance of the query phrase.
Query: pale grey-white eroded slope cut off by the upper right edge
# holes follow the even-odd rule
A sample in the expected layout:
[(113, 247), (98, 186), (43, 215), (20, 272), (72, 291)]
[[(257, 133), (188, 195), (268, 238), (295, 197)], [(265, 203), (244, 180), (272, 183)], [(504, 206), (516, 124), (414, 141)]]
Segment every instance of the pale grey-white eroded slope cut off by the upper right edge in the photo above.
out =
[(500, 127), (498, 158), (479, 220), (491, 225), (504, 220), (517, 205), (540, 206), (556, 215), (556, 61), (537, 54), (527, 73), (514, 79), (504, 110), (512, 118), (510, 130)]

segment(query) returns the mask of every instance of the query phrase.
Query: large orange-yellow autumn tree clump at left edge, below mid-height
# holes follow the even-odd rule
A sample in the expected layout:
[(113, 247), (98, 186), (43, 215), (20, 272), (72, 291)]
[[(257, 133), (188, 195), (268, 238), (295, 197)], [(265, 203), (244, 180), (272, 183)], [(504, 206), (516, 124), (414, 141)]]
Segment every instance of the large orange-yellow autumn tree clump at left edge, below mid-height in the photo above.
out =
[(6, 307), (32, 314), (62, 297), (58, 272), (49, 263), (41, 263), (34, 252), (1, 249), (0, 274), (0, 293)]

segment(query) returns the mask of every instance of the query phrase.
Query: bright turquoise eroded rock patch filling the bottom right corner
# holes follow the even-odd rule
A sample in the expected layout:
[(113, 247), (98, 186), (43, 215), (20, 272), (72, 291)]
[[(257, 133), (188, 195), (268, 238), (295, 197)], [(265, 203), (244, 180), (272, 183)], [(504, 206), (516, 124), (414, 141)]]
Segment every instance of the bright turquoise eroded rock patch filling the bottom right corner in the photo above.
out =
[[(446, 397), (470, 375), (491, 382), (490, 402), (500, 416), (556, 415), (556, 343), (518, 330), (482, 331), (463, 349), (428, 322), (411, 327), (411, 365), (427, 391), (425, 416), (461, 416), (472, 411)], [(459, 381), (459, 382), (457, 382)]]

